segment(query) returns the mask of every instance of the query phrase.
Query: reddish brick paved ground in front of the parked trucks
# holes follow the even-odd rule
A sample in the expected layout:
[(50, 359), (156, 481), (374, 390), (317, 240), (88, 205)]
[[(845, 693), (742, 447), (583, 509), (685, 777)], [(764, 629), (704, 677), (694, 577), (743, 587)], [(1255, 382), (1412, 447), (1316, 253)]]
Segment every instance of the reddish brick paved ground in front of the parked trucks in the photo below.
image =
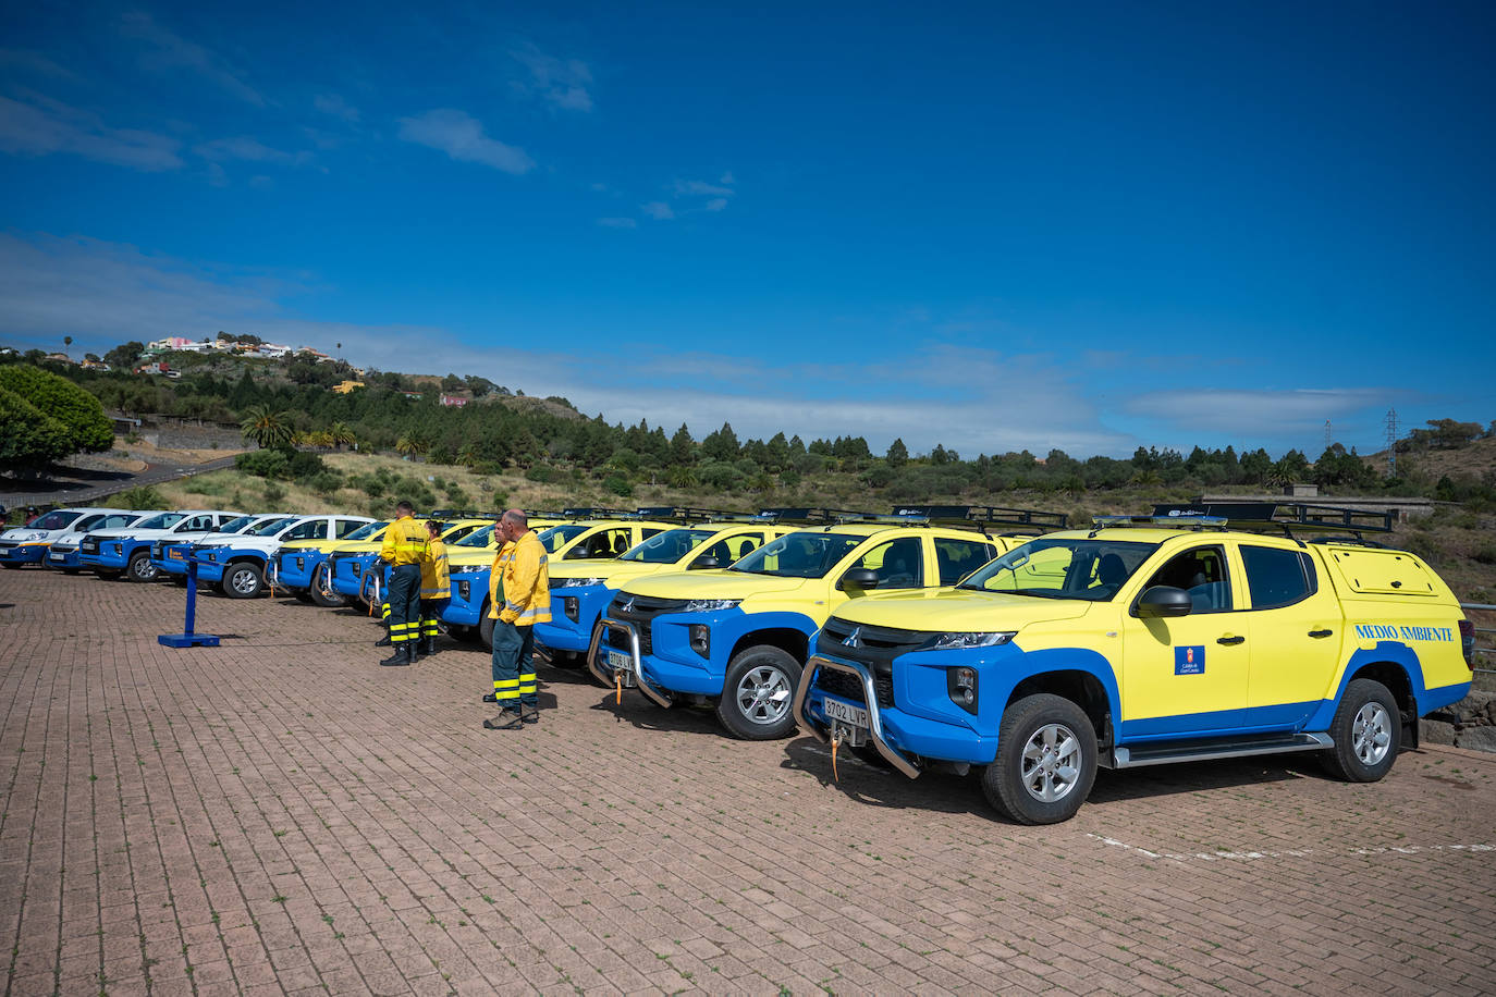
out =
[[(377, 668), (370, 622), (0, 572), (13, 994), (1489, 993), (1496, 758), (1101, 773), (1007, 824), (975, 780), (745, 744), (485, 655)], [(13, 948), (12, 948), (13, 946)]]

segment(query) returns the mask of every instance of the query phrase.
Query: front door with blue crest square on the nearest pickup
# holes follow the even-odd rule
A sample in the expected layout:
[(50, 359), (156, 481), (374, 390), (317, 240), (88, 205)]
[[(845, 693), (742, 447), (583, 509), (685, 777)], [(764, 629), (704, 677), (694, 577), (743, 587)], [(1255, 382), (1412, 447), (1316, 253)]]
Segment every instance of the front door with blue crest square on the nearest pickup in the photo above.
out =
[(1122, 629), (1122, 735), (1189, 737), (1236, 729), (1246, 706), (1248, 614), (1236, 608), (1225, 544), (1171, 556), (1138, 589), (1183, 589), (1188, 616), (1141, 619), (1137, 598)]

